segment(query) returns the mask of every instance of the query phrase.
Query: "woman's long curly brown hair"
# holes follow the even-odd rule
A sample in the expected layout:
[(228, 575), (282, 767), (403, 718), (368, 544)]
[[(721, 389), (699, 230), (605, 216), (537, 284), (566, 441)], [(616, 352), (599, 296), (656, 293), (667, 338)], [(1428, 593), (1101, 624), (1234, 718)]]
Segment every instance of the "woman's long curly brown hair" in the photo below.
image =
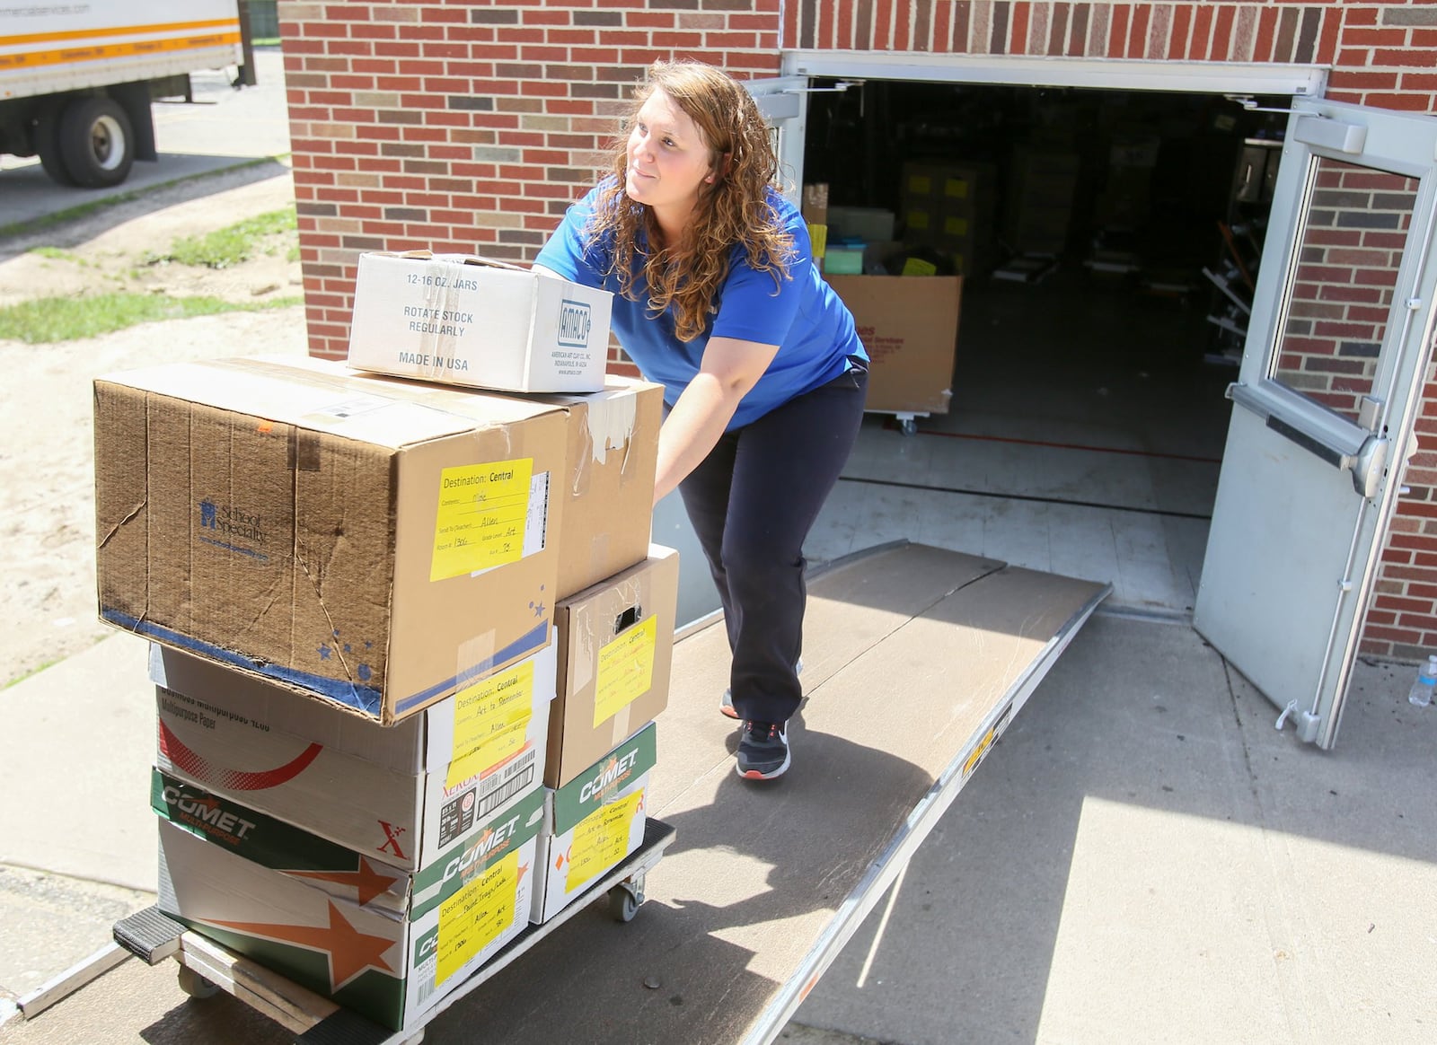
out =
[[(729, 257), (743, 245), (749, 266), (779, 280), (789, 278), (793, 237), (769, 202), (767, 189), (779, 172), (769, 128), (753, 96), (727, 73), (701, 62), (655, 62), (647, 79), (634, 90), (634, 106), (625, 128), (655, 90), (662, 90), (683, 109), (708, 148), (713, 184), (700, 187), (688, 237), (664, 243), (658, 222), (647, 204), (629, 200), (624, 191), (628, 168), (628, 139), (615, 139), (612, 178), (606, 178), (593, 208), (591, 241), (612, 237), (614, 271), (619, 293), (635, 300), (635, 257), (642, 258), (648, 284), (648, 307), (661, 314), (674, 306), (674, 330), (681, 342), (704, 332), (714, 294), (729, 276)], [(647, 250), (639, 247), (642, 233)]]

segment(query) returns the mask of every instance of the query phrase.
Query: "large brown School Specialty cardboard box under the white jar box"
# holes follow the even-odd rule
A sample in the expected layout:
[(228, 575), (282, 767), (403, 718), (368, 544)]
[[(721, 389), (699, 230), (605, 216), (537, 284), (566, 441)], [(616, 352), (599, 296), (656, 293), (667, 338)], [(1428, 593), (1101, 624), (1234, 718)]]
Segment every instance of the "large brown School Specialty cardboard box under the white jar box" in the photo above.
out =
[(547, 645), (565, 439), (318, 359), (96, 379), (101, 616), (394, 722)]

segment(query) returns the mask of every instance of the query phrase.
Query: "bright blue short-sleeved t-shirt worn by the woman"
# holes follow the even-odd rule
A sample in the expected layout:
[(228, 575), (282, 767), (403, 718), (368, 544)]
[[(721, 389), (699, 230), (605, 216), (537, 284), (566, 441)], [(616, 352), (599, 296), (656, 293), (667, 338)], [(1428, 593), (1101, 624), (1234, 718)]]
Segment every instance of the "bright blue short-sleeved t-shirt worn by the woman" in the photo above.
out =
[[(867, 365), (868, 353), (848, 306), (813, 266), (808, 224), (793, 204), (769, 188), (769, 204), (793, 237), (795, 256), (787, 278), (749, 267), (741, 245), (733, 248), (729, 276), (714, 297), (704, 333), (691, 342), (674, 336), (674, 310), (655, 316), (648, 309), (648, 283), (635, 274), (638, 300), (619, 294), (618, 276), (609, 273), (612, 251), (605, 243), (588, 244), (588, 224), (599, 188), (572, 205), (563, 224), (549, 237), (535, 264), (565, 278), (614, 294), (611, 324), (619, 345), (648, 380), (664, 385), (664, 402), (673, 406), (698, 373), (710, 337), (736, 337), (777, 345), (769, 369), (739, 402), (729, 431), (762, 418), (789, 399), (826, 385), (854, 366)], [(609, 274), (605, 274), (609, 273)]]

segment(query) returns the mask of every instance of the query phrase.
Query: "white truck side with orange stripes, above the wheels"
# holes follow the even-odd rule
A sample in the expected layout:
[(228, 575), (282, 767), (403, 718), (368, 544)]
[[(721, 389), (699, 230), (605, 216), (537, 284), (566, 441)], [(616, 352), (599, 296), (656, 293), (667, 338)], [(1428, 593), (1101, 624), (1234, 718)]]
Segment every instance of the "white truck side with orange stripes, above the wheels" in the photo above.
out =
[(0, 99), (243, 60), (236, 0), (0, 0)]

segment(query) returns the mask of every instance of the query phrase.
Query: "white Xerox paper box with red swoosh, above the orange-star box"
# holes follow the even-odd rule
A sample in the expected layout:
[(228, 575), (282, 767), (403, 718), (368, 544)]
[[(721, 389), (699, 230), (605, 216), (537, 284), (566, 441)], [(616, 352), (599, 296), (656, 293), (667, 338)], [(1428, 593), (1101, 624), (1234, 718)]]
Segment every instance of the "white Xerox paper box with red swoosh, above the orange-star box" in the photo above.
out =
[(371, 860), (428, 867), (540, 785), (553, 645), (381, 726), (151, 646), (155, 765)]

